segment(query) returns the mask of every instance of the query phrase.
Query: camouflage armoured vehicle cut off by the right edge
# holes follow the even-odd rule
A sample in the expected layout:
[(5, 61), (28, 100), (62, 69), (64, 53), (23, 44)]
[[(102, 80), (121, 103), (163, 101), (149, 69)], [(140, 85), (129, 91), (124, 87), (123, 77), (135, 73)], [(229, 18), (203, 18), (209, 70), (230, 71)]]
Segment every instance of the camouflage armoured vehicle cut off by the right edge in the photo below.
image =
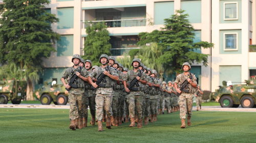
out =
[(223, 86), (220, 86), (216, 92), (211, 93), (221, 107), (238, 107), (243, 108), (256, 107), (256, 76), (245, 80), (246, 84), (226, 85), (223, 81)]

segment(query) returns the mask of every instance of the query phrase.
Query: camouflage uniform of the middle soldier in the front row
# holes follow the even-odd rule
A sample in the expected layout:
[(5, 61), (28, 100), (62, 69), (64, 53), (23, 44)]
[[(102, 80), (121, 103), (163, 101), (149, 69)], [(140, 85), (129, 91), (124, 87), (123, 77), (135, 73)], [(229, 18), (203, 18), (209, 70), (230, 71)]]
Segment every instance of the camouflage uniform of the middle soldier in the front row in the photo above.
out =
[[(118, 76), (116, 70), (112, 67), (109, 67), (109, 73), (114, 76)], [(95, 70), (93, 70), (89, 76), (91, 78), (95, 77), (97, 78), (100, 73), (105, 71), (105, 68), (99, 67)], [(103, 74), (103, 73), (102, 73)], [(102, 121), (103, 117), (103, 106), (106, 111), (106, 116), (111, 117), (112, 112), (111, 112), (111, 105), (112, 105), (112, 100), (113, 100), (113, 82), (114, 80), (111, 79), (109, 76), (105, 77), (106, 82), (104, 83), (103, 81), (101, 83), (105, 84), (105, 87), (98, 87), (96, 89), (96, 97), (95, 97), (95, 102), (96, 102), (96, 118), (98, 121)]]

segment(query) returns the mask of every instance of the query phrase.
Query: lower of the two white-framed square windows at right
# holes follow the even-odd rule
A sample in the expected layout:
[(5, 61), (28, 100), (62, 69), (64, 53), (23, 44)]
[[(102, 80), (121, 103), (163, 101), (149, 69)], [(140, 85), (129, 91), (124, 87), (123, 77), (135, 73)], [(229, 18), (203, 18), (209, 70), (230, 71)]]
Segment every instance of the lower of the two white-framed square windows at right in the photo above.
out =
[(238, 50), (238, 33), (224, 33), (224, 50)]

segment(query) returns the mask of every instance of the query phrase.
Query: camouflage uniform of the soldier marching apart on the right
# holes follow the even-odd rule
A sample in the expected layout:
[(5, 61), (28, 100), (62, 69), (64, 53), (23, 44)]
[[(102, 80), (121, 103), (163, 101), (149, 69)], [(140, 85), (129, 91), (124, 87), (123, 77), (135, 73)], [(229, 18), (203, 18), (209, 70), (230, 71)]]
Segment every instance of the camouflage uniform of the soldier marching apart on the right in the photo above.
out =
[[(187, 75), (183, 73), (179, 74), (176, 77), (175, 83), (180, 86), (187, 78), (189, 78), (190, 73)], [(197, 78), (194, 74), (191, 74), (192, 82), (197, 84)], [(188, 93), (182, 92), (179, 97), (179, 105), (180, 105), (180, 119), (186, 119), (186, 113), (188, 117), (192, 115), (192, 107), (193, 107), (193, 94), (195, 93), (195, 88), (192, 87), (191, 84), (187, 84)]]

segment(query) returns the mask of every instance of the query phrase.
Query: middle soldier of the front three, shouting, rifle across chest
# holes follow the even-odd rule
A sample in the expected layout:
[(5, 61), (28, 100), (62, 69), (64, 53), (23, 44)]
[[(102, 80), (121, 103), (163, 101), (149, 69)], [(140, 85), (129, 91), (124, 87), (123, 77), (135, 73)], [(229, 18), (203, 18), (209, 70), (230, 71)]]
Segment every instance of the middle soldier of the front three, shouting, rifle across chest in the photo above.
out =
[[(108, 65), (109, 59), (108, 55), (102, 54), (99, 58), (101, 66), (98, 69), (93, 70), (89, 76), (88, 80), (96, 89), (96, 118), (98, 120), (98, 131), (103, 131), (102, 129), (102, 117), (103, 115), (103, 105), (106, 111), (106, 128), (111, 129), (111, 105), (113, 98), (113, 82), (118, 80), (118, 74), (116, 70)], [(99, 77), (100, 74), (104, 74), (104, 79), (97, 85), (92, 81), (92, 78)]]

